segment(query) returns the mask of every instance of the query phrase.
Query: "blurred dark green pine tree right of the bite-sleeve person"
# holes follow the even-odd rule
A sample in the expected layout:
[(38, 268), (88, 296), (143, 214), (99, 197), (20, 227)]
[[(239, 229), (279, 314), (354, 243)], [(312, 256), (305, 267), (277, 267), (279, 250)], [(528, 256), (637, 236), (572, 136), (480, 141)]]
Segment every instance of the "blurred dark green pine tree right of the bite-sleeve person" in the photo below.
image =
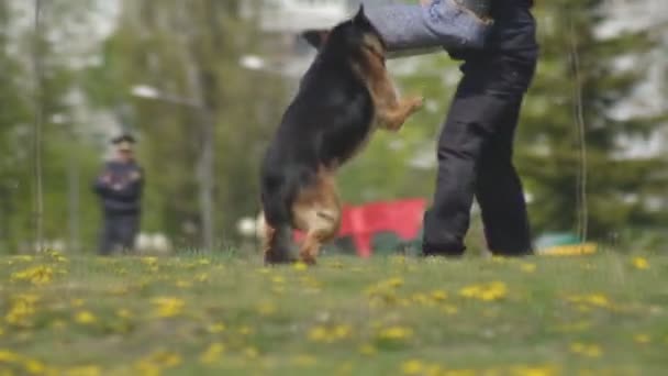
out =
[[(535, 232), (572, 231), (601, 240), (659, 220), (664, 162), (623, 156), (621, 137), (643, 140), (658, 119), (620, 119), (612, 110), (642, 79), (645, 32), (597, 38), (603, 1), (537, 2), (541, 63), (519, 131), (516, 163), (533, 195)], [(620, 69), (621, 57), (634, 58)], [(582, 201), (583, 200), (583, 201)], [(588, 226), (586, 226), (588, 224)]]

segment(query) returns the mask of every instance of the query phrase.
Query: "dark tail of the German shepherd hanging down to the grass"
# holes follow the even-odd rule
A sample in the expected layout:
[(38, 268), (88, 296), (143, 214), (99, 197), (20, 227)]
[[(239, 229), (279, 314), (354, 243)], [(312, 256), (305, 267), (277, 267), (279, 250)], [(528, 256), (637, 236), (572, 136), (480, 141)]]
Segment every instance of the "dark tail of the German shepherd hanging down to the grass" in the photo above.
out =
[(271, 229), (267, 239), (265, 263), (280, 264), (291, 261), (292, 203), (297, 191), (293, 185), (275, 191), (263, 191), (263, 209), (266, 225)]

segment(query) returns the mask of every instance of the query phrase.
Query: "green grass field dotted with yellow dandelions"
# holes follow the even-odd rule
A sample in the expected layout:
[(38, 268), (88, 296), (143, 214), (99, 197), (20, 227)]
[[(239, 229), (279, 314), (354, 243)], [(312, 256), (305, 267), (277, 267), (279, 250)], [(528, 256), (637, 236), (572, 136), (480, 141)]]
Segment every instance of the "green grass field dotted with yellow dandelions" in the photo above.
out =
[(0, 375), (665, 375), (668, 257), (0, 258)]

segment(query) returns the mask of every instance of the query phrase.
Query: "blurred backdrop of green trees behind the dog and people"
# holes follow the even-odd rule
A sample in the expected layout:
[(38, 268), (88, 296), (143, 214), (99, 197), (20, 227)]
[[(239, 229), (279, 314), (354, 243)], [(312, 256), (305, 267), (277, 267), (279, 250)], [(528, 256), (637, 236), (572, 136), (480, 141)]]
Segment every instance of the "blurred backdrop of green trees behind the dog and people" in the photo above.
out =
[[(91, 183), (122, 132), (137, 137), (146, 175), (142, 244), (254, 248), (259, 158), (313, 58), (298, 32), (357, 4), (1, 0), (0, 253), (93, 253), (101, 212)], [(667, 247), (666, 7), (537, 1), (542, 58), (515, 151), (537, 241)], [(349, 204), (428, 200), (434, 190), (457, 63), (443, 53), (390, 70), (426, 107), (343, 169)], [(483, 244), (478, 222), (474, 248)]]

